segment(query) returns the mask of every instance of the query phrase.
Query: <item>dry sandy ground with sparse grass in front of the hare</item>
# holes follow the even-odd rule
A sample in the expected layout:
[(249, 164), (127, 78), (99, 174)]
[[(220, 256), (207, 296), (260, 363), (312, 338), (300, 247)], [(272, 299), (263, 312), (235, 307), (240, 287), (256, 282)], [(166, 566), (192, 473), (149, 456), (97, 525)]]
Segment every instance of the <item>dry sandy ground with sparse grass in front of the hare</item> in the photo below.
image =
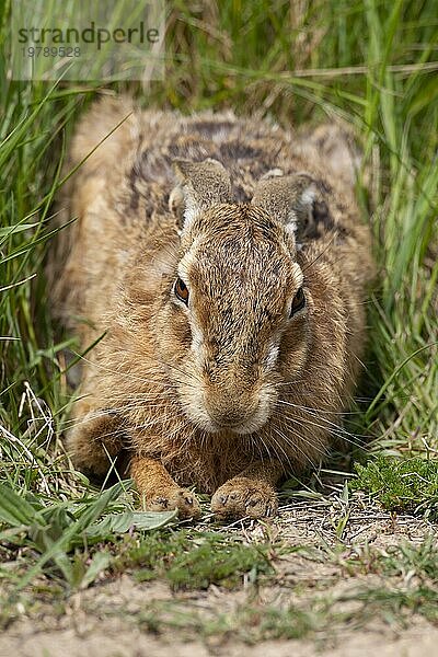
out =
[[(197, 529), (206, 532), (208, 523)], [(138, 568), (127, 568), (64, 598), (41, 578), (16, 602), (0, 655), (350, 657), (373, 647), (379, 656), (434, 654), (438, 627), (424, 600), (418, 610), (414, 600), (427, 586), (415, 555), (433, 557), (434, 523), (390, 514), (355, 493), (295, 500), (269, 523), (240, 521), (220, 531), (269, 545), (272, 570), (247, 572), (231, 589), (222, 581), (175, 590), (174, 581), (139, 581)]]

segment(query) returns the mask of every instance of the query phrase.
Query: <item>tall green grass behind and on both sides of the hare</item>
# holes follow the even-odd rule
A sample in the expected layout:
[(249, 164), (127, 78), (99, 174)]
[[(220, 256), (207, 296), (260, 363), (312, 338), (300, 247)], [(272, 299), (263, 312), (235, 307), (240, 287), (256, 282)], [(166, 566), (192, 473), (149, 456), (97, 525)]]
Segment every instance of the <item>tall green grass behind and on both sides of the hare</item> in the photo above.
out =
[[(169, 4), (166, 77), (132, 88), (145, 105), (257, 108), (286, 126), (334, 117), (355, 126), (365, 152), (358, 196), (379, 264), (360, 431), (376, 439), (374, 450), (435, 453), (435, 0)], [(7, 38), (3, 21), (3, 46)], [(0, 481), (47, 497), (87, 492), (59, 440), (69, 391), (44, 260), (66, 145), (100, 91), (11, 82), (0, 59)]]

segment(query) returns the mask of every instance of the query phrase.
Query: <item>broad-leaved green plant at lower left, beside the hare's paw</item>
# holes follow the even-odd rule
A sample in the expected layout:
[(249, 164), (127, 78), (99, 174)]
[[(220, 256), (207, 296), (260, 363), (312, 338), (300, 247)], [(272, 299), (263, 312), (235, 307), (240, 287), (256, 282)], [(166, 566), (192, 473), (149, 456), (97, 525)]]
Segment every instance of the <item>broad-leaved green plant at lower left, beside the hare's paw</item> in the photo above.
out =
[(176, 516), (174, 511), (132, 511), (129, 498), (122, 497), (128, 488), (125, 482), (120, 482), (94, 496), (89, 494), (76, 502), (58, 500), (46, 505), (32, 493), (20, 496), (10, 486), (0, 484), (0, 525), (7, 527), (0, 532), (0, 541), (12, 543), (15, 548), (31, 548), (39, 555), (27, 573), (18, 579), (18, 588), (22, 589), (32, 581), (43, 568), (53, 574), (54, 565), (55, 573), (59, 570), (70, 587), (84, 588), (112, 561), (110, 550), (90, 553), (91, 545), (114, 541), (129, 529), (157, 529)]

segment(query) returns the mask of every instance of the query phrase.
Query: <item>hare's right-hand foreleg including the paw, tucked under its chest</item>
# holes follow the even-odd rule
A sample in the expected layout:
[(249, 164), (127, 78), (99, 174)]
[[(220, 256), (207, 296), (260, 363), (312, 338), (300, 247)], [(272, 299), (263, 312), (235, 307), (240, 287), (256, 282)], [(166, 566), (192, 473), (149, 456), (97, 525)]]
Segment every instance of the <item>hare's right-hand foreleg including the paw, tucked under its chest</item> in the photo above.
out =
[(275, 486), (284, 474), (279, 461), (257, 461), (218, 488), (211, 510), (219, 518), (267, 518), (275, 516), (278, 499)]

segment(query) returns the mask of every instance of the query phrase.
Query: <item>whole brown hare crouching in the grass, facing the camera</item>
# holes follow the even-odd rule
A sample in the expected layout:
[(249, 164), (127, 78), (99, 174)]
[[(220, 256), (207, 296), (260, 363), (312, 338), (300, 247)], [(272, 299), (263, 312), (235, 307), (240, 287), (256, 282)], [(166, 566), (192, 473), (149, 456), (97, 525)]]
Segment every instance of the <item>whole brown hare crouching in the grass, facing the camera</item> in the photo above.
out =
[(97, 102), (59, 200), (56, 314), (83, 358), (69, 448), (104, 476), (127, 454), (147, 509), (277, 511), (276, 486), (338, 433), (365, 343), (370, 231), (339, 128), (284, 131)]

